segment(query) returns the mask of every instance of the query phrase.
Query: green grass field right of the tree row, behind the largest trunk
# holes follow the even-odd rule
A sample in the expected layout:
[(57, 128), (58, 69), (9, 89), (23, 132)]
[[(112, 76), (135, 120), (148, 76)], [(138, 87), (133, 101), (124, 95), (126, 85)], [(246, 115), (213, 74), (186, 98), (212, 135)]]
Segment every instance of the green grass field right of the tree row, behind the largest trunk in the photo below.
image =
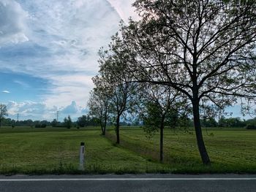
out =
[[(121, 128), (121, 146), (149, 161), (159, 159), (159, 133), (148, 139), (142, 128)], [(203, 135), (211, 166), (201, 163), (195, 132), (165, 129), (164, 164), (173, 173), (256, 173), (256, 131), (244, 128), (208, 128)], [(113, 128), (108, 139), (116, 141)]]

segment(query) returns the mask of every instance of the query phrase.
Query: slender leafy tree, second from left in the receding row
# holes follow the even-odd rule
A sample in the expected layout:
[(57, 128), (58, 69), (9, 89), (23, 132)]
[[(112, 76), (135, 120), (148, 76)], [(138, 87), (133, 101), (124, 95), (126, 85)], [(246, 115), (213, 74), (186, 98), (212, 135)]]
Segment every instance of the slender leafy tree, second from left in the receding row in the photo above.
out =
[[(112, 47), (118, 48), (116, 45)], [(110, 101), (110, 113), (116, 122), (116, 143), (119, 144), (120, 119), (134, 105), (133, 96), (136, 86), (135, 83), (129, 82), (129, 74), (124, 70), (124, 57), (114, 55), (113, 51), (99, 50), (99, 75), (93, 80), (96, 87)]]

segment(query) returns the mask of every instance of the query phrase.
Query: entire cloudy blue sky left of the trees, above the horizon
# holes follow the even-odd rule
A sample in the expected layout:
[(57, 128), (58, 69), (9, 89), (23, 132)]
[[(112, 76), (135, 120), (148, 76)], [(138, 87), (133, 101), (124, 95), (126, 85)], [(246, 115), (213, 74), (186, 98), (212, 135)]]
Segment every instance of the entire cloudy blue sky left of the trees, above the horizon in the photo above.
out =
[(97, 51), (118, 22), (136, 18), (133, 0), (0, 0), (0, 103), (10, 118), (86, 112)]

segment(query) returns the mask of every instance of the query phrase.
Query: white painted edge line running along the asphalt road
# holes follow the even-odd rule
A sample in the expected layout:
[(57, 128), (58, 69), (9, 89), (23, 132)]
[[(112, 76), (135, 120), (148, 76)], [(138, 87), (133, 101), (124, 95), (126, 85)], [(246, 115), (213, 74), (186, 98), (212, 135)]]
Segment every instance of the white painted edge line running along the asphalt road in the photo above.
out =
[(31, 181), (184, 181), (184, 180), (256, 180), (256, 177), (215, 177), (215, 178), (42, 178), (42, 179), (0, 179), (0, 182), (31, 182)]

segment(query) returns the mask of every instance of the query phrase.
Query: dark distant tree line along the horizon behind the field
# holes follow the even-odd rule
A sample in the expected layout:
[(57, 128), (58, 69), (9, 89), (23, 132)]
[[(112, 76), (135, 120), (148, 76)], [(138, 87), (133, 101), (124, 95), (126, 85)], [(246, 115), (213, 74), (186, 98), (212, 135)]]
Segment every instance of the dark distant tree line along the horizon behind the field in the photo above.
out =
[[(149, 115), (152, 115), (152, 112), (149, 112)], [(172, 127), (173, 121), (178, 120), (175, 119), (176, 116), (170, 115), (170, 123), (167, 123), (165, 126)], [(65, 120), (66, 119), (66, 120)], [(152, 117), (148, 116), (145, 118), (145, 121), (140, 121), (137, 118), (134, 120), (129, 121), (121, 121), (120, 126), (144, 126), (148, 123), (148, 121), (151, 121)], [(71, 124), (70, 124), (71, 121)], [(13, 120), (11, 118), (3, 118), (1, 120), (1, 126), (34, 126), (34, 127), (46, 127), (46, 126), (52, 126), (52, 127), (67, 127), (67, 123), (69, 123), (70, 128), (71, 127), (87, 127), (87, 126), (100, 126), (99, 118), (92, 118), (90, 115), (83, 115), (78, 118), (78, 120), (72, 122), (71, 118), (67, 117), (64, 118), (64, 122), (57, 122), (56, 119), (53, 121), (48, 120)], [(241, 118), (225, 118), (222, 117), (219, 120), (216, 120), (214, 118), (208, 118), (208, 119), (201, 119), (202, 126), (207, 128), (250, 128), (255, 127), (256, 129), (256, 118), (244, 120)], [(108, 121), (108, 126), (114, 126), (114, 123), (111, 123)], [(187, 127), (193, 126), (192, 119), (187, 119), (186, 122)]]

